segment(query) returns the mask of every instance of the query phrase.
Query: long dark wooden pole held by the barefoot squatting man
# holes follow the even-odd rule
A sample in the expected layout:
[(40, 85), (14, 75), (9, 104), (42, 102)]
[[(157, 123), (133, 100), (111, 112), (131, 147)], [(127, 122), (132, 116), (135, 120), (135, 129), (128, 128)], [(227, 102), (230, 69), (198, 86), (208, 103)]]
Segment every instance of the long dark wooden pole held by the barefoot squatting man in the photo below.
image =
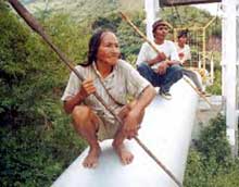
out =
[[(74, 66), (71, 64), (71, 61), (66, 58), (66, 55), (59, 49), (52, 42), (51, 38), (46, 34), (43, 28), (40, 26), (40, 24), (34, 18), (34, 16), (17, 1), (17, 0), (9, 0), (9, 2), (12, 4), (12, 7), (16, 10), (16, 12), (24, 18), (24, 21), (27, 23), (27, 25), (33, 28), (38, 35), (42, 37), (42, 39), (51, 47), (51, 49), (59, 55), (59, 58), (64, 62), (71, 71), (73, 71), (76, 76), (84, 80), (84, 77), (74, 68)], [(123, 124), (122, 120), (115, 114), (111, 109), (108, 108), (104, 100), (97, 94), (93, 94), (95, 97), (103, 104), (103, 107), (111, 112), (111, 114), (121, 123)], [(156, 164), (164, 170), (165, 173), (167, 173), (171, 178), (179, 186), (183, 187), (181, 183), (172, 174), (169, 170), (167, 170), (160, 161), (159, 159), (142, 144), (142, 141), (138, 137), (134, 137), (134, 139), (138, 142), (138, 145), (150, 155)]]

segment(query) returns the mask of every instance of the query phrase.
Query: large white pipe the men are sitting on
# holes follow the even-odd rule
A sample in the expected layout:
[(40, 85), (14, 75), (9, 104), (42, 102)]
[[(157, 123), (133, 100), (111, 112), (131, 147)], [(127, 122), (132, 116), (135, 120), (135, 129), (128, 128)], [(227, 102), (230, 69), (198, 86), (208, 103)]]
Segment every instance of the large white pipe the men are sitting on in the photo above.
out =
[[(198, 96), (184, 80), (172, 87), (172, 100), (156, 96), (147, 108), (139, 138), (158, 159), (183, 182), (196, 116)], [(102, 153), (97, 169), (81, 166), (86, 149), (52, 187), (176, 187), (168, 175), (137, 145), (126, 146), (135, 154), (134, 162), (122, 165), (111, 147), (101, 142)]]

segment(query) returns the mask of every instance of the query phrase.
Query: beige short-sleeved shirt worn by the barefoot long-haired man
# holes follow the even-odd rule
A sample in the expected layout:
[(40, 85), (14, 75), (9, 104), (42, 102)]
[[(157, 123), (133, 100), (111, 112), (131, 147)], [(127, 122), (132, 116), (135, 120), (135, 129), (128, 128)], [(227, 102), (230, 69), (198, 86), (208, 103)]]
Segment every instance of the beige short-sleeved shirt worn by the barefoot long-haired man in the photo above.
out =
[[(122, 104), (127, 103), (128, 95), (134, 98), (138, 98), (143, 89), (150, 85), (150, 83), (139, 75), (139, 73), (130, 64), (123, 60), (118, 60), (112, 73), (105, 78), (100, 76), (95, 63), (89, 66), (77, 65), (75, 68), (81, 76), (84, 76), (85, 79), (89, 77), (93, 79), (93, 85), (97, 88), (98, 95), (103, 98), (106, 105), (115, 113), (120, 112), (122, 105), (115, 103), (109, 97), (101, 82), (111, 96)], [(101, 82), (99, 78), (101, 78)], [(68, 84), (62, 96), (62, 101), (65, 101), (68, 97), (74, 97), (79, 91), (80, 87), (81, 80), (79, 80), (75, 73), (72, 72)], [(104, 119), (108, 122), (114, 122), (114, 116), (104, 109), (93, 95), (88, 96), (84, 100), (84, 104), (90, 107), (101, 119)]]

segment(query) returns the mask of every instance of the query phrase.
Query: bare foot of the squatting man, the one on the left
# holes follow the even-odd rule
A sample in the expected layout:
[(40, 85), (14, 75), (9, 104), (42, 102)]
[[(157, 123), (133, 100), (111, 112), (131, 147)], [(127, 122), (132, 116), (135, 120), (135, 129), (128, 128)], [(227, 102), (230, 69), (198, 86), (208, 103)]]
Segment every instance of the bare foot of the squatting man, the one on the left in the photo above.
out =
[(88, 155), (83, 161), (83, 165), (88, 169), (96, 169), (100, 157), (100, 147), (90, 148)]

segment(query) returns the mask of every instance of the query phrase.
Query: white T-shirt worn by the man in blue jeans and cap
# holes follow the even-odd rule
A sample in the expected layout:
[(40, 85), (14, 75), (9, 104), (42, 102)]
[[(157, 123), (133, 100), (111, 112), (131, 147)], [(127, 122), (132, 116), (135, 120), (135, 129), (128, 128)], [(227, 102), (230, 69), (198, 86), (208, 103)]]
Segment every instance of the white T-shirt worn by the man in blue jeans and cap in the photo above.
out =
[[(153, 41), (153, 45), (160, 52), (164, 52), (166, 58), (171, 61), (179, 61), (177, 49), (173, 41), (164, 40), (162, 45), (158, 45)], [(152, 47), (148, 42), (144, 42), (139, 51), (136, 64), (140, 64), (141, 62), (152, 60), (156, 55), (158, 53), (152, 49)], [(151, 67), (156, 68), (158, 65), (159, 63), (152, 65)]]

